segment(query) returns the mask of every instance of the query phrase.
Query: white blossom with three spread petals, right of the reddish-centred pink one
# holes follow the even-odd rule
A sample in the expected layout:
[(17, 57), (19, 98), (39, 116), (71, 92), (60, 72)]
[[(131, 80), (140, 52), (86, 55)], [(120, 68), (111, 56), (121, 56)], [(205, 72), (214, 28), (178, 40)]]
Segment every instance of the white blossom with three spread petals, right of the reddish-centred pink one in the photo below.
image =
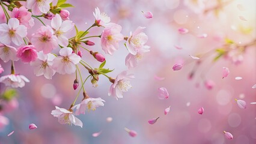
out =
[(72, 23), (71, 20), (64, 20), (62, 22), (61, 16), (59, 14), (56, 14), (55, 17), (52, 18), (51, 26), (55, 31), (55, 35), (58, 38), (58, 44), (66, 47), (69, 45), (69, 39), (65, 37), (63, 34), (71, 31), (75, 24)]

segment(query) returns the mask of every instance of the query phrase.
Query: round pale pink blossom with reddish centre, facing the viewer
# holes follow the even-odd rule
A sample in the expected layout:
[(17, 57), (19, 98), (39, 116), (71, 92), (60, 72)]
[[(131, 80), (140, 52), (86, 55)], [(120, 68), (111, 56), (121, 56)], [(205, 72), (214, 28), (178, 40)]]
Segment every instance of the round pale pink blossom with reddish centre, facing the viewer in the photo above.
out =
[(53, 34), (54, 32), (50, 26), (41, 26), (35, 34), (32, 34), (31, 43), (35, 46), (37, 52), (43, 50), (43, 53), (47, 54), (58, 47), (58, 38)]

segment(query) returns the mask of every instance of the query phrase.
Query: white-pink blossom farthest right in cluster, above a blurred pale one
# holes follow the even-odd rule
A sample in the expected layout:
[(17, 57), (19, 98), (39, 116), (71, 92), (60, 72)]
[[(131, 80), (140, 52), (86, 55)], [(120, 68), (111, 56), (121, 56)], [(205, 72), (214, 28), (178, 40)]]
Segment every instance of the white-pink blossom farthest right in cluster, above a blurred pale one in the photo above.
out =
[(142, 32), (143, 29), (145, 29), (145, 27), (139, 26), (133, 33), (130, 32), (126, 47), (132, 55), (136, 55), (138, 49), (141, 49), (148, 41), (148, 36)]

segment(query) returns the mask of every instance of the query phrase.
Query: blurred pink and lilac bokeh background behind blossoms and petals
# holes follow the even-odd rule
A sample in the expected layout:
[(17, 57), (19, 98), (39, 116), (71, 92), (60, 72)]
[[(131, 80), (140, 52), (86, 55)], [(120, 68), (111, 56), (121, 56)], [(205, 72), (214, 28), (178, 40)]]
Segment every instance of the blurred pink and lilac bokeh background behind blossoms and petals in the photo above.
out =
[[(55, 2), (55, 1), (54, 1)], [(111, 83), (106, 77), (99, 77), (99, 86), (93, 88), (90, 81), (85, 89), (90, 97), (101, 97), (106, 101), (104, 107), (98, 107), (93, 112), (79, 115), (84, 127), (61, 125), (58, 119), (50, 115), (55, 106), (68, 109), (72, 104), (78, 89), (73, 90), (75, 74), (55, 74), (52, 80), (43, 76), (36, 77), (29, 64), (16, 62), (17, 73), (30, 80), (24, 88), (17, 89), (17, 97), (11, 101), (2, 102), (0, 115), (0, 143), (212, 143), (212, 144), (252, 144), (256, 143), (256, 47), (247, 47), (239, 64), (234, 62), (235, 56), (222, 56), (218, 61), (213, 59), (218, 55), (216, 49), (224, 46), (225, 39), (237, 44), (248, 44), (255, 41), (256, 1), (181, 1), (181, 0), (94, 0), (70, 1), (75, 8), (70, 11), (70, 20), (85, 30), (94, 23), (94, 8), (99, 7), (111, 17), (111, 22), (122, 26), (122, 34), (129, 36), (138, 26), (145, 26), (148, 35), (146, 45), (150, 52), (145, 53), (138, 67), (132, 68), (135, 74), (131, 80), (132, 88), (124, 93), (124, 98), (116, 100), (108, 96)], [(141, 11), (151, 11), (153, 19), (145, 19)], [(34, 19), (33, 31), (41, 26)], [(44, 20), (50, 23), (50, 20)], [(188, 34), (179, 34), (179, 28), (189, 29)], [(99, 35), (103, 28), (92, 28), (88, 35)], [(75, 29), (70, 35), (75, 34)], [(197, 35), (207, 34), (206, 38)], [(69, 35), (67, 35), (69, 36)], [(71, 36), (69, 36), (71, 37)], [(90, 50), (104, 53), (100, 47), (99, 38), (91, 38), (96, 45)], [(124, 43), (124, 41), (123, 41)], [(115, 69), (109, 76), (115, 77), (127, 70), (124, 63), (128, 54), (123, 43), (114, 55), (106, 56), (106, 68)], [(175, 46), (183, 49), (176, 49)], [(56, 51), (56, 53), (58, 53)], [(99, 67), (90, 53), (83, 51), (84, 60)], [(198, 60), (190, 58), (200, 56)], [(172, 66), (184, 62), (179, 71), (173, 71)], [(4, 63), (1, 76), (9, 74), (10, 61)], [(222, 79), (222, 67), (230, 69), (230, 75)], [(81, 67), (82, 74), (88, 76), (87, 70)], [(192, 79), (189, 75), (194, 73)], [(162, 77), (163, 80), (157, 80)], [(235, 80), (242, 77), (242, 80)], [(204, 83), (212, 80), (215, 85), (207, 89)], [(169, 92), (167, 100), (157, 98), (157, 88), (165, 87)], [(6, 88), (0, 83), (0, 94)], [(234, 99), (245, 100), (246, 109), (240, 109)], [(82, 100), (82, 94), (79, 101)], [(168, 115), (163, 111), (171, 106)], [(7, 108), (8, 107), (8, 108)], [(197, 110), (204, 107), (204, 114)], [(3, 118), (4, 116), (6, 118)], [(159, 117), (154, 125), (148, 120)], [(107, 122), (106, 118), (112, 121)], [(34, 123), (37, 129), (29, 130), (28, 125)], [(138, 135), (130, 137), (124, 127), (135, 130)], [(7, 137), (11, 131), (14, 133)], [(228, 140), (223, 131), (233, 134)], [(102, 131), (98, 137), (93, 133)]]

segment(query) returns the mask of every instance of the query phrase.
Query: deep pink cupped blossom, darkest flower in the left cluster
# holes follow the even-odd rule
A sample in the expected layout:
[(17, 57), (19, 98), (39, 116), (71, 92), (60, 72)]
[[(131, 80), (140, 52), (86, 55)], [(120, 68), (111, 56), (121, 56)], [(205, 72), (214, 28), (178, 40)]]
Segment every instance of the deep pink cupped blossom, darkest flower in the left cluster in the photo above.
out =
[(26, 45), (23, 47), (19, 47), (17, 49), (17, 57), (22, 60), (22, 62), (33, 62), (37, 59), (37, 51), (35, 50), (35, 46)]

